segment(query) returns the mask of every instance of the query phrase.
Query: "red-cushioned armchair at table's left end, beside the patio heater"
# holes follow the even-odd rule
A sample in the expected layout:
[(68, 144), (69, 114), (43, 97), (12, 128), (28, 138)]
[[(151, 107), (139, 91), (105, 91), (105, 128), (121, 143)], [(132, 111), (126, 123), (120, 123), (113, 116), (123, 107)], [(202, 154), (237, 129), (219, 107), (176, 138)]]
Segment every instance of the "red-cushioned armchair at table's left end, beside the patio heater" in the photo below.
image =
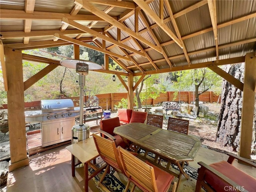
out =
[[(104, 138), (109, 138), (109, 140), (114, 140), (116, 143), (116, 146), (127, 148), (128, 144), (126, 144), (119, 135), (116, 135), (113, 133), (114, 128), (118, 126), (120, 126), (120, 121), (118, 117), (100, 120), (100, 130), (101, 130), (100, 134)], [(104, 134), (104, 132), (108, 134)]]

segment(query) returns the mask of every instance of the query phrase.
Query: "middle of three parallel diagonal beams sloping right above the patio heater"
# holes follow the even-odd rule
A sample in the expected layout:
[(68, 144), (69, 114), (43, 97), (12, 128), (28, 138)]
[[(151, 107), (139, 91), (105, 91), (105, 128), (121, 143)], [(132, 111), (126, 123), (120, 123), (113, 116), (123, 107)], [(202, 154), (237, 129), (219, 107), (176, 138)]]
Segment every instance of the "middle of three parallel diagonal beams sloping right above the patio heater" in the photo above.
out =
[(62, 19), (62, 23), (68, 24), (68, 25), (70, 25), (70, 26), (72, 26), (74, 28), (77, 28), (77, 29), (81, 30), (81, 31), (87, 32), (89, 34), (92, 34), (95, 37), (101, 38), (101, 39), (106, 40), (108, 42), (111, 42), (111, 43), (113, 43), (113, 44), (115, 44), (115, 45), (117, 45), (119, 47), (122, 47), (122, 48), (124, 48), (126, 50), (129, 50), (131, 52), (134, 52), (136, 54), (139, 54), (139, 55), (145, 57), (145, 54), (143, 54), (142, 52), (137, 51), (137, 50), (135, 50), (135, 49), (133, 49), (133, 48), (131, 48), (131, 47), (125, 45), (125, 44), (122, 44), (122, 43), (120, 43), (120, 42), (118, 42), (118, 41), (116, 41), (116, 40), (114, 40), (112, 38), (109, 38), (109, 37), (107, 37), (107, 36), (105, 36), (103, 34), (95, 32), (94, 30), (92, 30), (92, 29), (90, 29), (90, 28), (88, 28), (86, 26), (83, 26), (83, 25), (81, 25), (81, 24), (79, 24), (77, 22), (68, 20), (67, 18), (63, 18)]

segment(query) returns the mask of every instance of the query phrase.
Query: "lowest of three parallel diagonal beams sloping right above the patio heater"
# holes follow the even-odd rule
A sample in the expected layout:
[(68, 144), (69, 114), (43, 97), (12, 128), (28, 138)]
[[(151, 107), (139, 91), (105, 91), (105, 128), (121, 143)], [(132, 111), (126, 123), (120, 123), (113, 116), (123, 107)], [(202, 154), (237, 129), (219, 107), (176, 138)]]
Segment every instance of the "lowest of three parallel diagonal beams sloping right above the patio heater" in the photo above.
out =
[(96, 51), (99, 51), (99, 52), (102, 52), (102, 53), (105, 53), (105, 54), (109, 54), (109, 55), (112, 55), (112, 56), (114, 56), (114, 57), (118, 57), (118, 58), (122, 58), (122, 59), (124, 59), (124, 60), (130, 61), (129, 58), (124, 57), (124, 56), (122, 56), (122, 55), (119, 55), (119, 54), (116, 54), (116, 53), (112, 53), (112, 52), (107, 51), (107, 50), (103, 50), (103, 49), (98, 48), (98, 47), (96, 47), (96, 46), (93, 46), (93, 45), (90, 45), (90, 44), (81, 42), (81, 41), (76, 40), (76, 39), (72, 39), (72, 38), (67, 37), (67, 36), (64, 36), (64, 35), (60, 35), (60, 34), (55, 33), (55, 34), (54, 34), (54, 37), (55, 37), (55, 38), (58, 38), (58, 39), (65, 40), (65, 41), (68, 41), (68, 42), (71, 42), (71, 43), (73, 43), (73, 44), (77, 44), (77, 45), (81, 45), (81, 46), (87, 47), (87, 48), (92, 49), (92, 50), (96, 50)]

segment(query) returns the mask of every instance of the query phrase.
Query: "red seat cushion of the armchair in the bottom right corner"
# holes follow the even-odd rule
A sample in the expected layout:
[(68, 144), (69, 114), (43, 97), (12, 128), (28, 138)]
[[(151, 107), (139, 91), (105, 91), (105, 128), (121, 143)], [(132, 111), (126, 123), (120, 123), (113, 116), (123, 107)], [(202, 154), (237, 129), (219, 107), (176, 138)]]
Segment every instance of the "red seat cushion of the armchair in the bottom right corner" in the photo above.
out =
[[(230, 178), (232, 181), (236, 182), (240, 186), (244, 187), (244, 189), (249, 192), (256, 190), (256, 179), (252, 176), (242, 172), (238, 168), (232, 166), (226, 161), (210, 164), (212, 168), (217, 170), (218, 172), (224, 174), (226, 177)], [(211, 172), (206, 170), (204, 180), (214, 188), (214, 190), (218, 192), (226, 192), (226, 191), (236, 191), (235, 188), (233, 190), (232, 187), (229, 187), (224, 181), (219, 179), (217, 176), (212, 174)], [(243, 190), (240, 188), (240, 190)]]

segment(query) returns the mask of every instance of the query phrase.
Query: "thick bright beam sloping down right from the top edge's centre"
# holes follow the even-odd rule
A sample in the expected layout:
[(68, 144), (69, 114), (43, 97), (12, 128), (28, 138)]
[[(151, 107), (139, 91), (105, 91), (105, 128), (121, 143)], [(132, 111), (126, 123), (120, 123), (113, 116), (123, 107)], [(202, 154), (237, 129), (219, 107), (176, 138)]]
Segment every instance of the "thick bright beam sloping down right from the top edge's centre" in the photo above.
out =
[(154, 22), (156, 22), (156, 24), (158, 24), (158, 26), (164, 32), (166, 32), (166, 34), (168, 34), (168, 36), (170, 36), (170, 38), (172, 38), (176, 42), (176, 44), (178, 44), (178, 46), (180, 46), (180, 48), (183, 48), (182, 43), (180, 42), (180, 40), (175, 36), (175, 34), (172, 32), (172, 30), (170, 30), (170, 28), (168, 26), (166, 26), (166, 24), (163, 24), (161, 22), (161, 19), (157, 16), (157, 14), (152, 9), (150, 9), (148, 4), (146, 4), (144, 1), (141, 1), (141, 0), (134, 0), (134, 2), (136, 2), (136, 4), (138, 6), (140, 6), (140, 8), (142, 8), (142, 10), (146, 14), (148, 14), (150, 16), (150, 18), (152, 20), (154, 20)]

